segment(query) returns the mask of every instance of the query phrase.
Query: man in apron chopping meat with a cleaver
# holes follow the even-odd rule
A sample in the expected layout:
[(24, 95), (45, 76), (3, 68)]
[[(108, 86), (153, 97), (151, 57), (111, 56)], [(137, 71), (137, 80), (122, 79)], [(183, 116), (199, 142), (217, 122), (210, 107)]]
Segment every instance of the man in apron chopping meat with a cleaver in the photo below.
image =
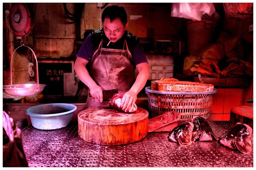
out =
[[(101, 106), (102, 90), (117, 88), (124, 94), (121, 108), (129, 112), (148, 79), (148, 62), (140, 40), (127, 31), (124, 7), (106, 7), (101, 20), (103, 29), (88, 35), (76, 55), (74, 69), (90, 89), (92, 97), (88, 96), (87, 108)], [(135, 66), (138, 70), (136, 79)]]

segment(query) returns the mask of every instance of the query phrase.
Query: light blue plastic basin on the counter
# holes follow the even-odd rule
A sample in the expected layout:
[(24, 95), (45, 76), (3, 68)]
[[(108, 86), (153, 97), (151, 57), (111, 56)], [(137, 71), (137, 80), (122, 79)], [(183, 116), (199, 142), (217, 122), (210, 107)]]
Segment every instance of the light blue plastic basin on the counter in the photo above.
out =
[(73, 118), (76, 106), (65, 103), (41, 104), (26, 110), (32, 126), (41, 130), (53, 130), (67, 126)]

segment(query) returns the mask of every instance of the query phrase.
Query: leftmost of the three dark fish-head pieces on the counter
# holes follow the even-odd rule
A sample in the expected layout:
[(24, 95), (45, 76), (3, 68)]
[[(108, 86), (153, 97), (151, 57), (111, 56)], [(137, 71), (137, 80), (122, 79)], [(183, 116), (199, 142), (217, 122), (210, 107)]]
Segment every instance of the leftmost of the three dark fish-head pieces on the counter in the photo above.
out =
[(181, 124), (174, 128), (168, 135), (168, 138), (180, 144), (180, 146), (187, 146), (192, 143), (191, 137), (193, 132), (194, 124), (190, 121), (186, 121), (184, 124)]

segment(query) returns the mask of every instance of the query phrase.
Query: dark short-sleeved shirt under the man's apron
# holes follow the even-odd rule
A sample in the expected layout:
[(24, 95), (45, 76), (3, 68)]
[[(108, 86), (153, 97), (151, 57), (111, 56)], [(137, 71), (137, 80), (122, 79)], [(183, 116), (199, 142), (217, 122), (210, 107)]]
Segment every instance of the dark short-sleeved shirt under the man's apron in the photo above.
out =
[[(146, 59), (146, 56), (144, 54), (144, 49), (141, 45), (141, 42), (135, 35), (132, 35), (128, 31), (125, 31), (123, 37), (120, 40), (118, 40), (115, 43), (110, 42), (109, 46), (107, 46), (109, 40), (106, 38), (106, 35), (104, 35), (103, 31), (102, 31), (102, 33), (103, 33), (103, 35), (101, 35), (101, 37), (98, 36), (95, 38), (98, 38), (99, 41), (101, 39), (103, 40), (103, 42), (102, 42), (103, 48), (123, 49), (124, 48), (124, 39), (128, 39), (127, 40), (128, 49), (129, 49), (130, 53), (132, 54), (132, 60), (135, 64), (135, 66), (140, 63), (148, 62)], [(129, 38), (128, 35), (132, 35), (132, 38)], [(99, 47), (99, 43), (97, 43), (97, 44), (92, 43), (92, 34), (90, 34), (83, 42), (83, 44), (76, 56), (90, 61), (92, 58), (92, 55), (95, 52), (95, 49), (97, 49), (98, 47)], [(126, 47), (124, 49), (126, 49)]]

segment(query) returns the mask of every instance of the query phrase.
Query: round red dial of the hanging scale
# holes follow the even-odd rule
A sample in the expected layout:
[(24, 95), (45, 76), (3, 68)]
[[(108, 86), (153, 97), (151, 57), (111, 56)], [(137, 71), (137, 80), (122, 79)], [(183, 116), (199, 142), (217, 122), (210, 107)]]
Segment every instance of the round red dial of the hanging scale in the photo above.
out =
[(34, 26), (34, 13), (26, 3), (14, 3), (9, 14), (11, 30), (17, 36), (27, 36)]

